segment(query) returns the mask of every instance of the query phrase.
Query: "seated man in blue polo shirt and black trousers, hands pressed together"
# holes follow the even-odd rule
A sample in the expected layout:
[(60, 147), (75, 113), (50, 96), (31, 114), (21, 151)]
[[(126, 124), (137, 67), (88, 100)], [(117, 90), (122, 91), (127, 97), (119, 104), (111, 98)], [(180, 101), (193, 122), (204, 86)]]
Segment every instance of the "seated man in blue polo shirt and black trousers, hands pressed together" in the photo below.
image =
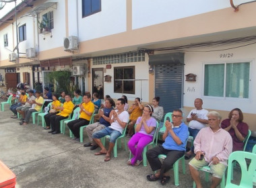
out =
[[(181, 109), (174, 109), (172, 112), (172, 123), (166, 120), (164, 126), (166, 130), (162, 136), (164, 144), (156, 146), (148, 150), (147, 158), (152, 171), (155, 174), (148, 175), (148, 181), (161, 180), (161, 184), (165, 185), (170, 180), (168, 171), (172, 168), (181, 156), (185, 154), (187, 139), (189, 138), (189, 130), (187, 125), (183, 123), (183, 112)], [(158, 158), (159, 154), (165, 154), (166, 158), (161, 163)]]

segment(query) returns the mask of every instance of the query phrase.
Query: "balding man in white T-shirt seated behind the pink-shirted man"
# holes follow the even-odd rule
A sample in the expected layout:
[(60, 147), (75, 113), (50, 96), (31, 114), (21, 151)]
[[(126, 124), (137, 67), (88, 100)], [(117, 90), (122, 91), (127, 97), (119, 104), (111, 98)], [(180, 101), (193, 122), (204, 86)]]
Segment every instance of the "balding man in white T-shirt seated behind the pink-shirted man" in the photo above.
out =
[[(202, 99), (195, 99), (194, 102), (195, 109), (192, 109), (187, 115), (187, 122), (189, 122), (189, 135), (195, 137), (197, 136), (199, 130), (205, 128), (206, 124), (208, 124), (207, 113), (206, 109), (203, 109), (203, 100)], [(191, 155), (194, 153), (194, 146), (191, 146), (191, 150), (185, 154), (185, 159), (191, 158)]]

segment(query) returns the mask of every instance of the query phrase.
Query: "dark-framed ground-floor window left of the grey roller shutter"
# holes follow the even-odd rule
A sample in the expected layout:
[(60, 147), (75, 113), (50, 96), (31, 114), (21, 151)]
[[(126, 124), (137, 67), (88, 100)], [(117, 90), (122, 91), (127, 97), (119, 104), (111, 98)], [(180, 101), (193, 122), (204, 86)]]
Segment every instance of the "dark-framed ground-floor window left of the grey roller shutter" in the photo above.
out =
[(135, 94), (135, 66), (114, 68), (114, 92)]

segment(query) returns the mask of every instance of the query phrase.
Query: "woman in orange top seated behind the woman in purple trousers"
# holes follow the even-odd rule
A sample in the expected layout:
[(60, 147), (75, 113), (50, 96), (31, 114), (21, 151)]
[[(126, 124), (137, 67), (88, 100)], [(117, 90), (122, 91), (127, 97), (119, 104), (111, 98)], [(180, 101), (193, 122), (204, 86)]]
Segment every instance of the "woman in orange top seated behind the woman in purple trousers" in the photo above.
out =
[(133, 105), (129, 108), (128, 113), (130, 114), (130, 120), (128, 124), (128, 134), (127, 137), (131, 137), (134, 133), (134, 125), (137, 118), (142, 115), (143, 105), (140, 103), (139, 97), (135, 98)]

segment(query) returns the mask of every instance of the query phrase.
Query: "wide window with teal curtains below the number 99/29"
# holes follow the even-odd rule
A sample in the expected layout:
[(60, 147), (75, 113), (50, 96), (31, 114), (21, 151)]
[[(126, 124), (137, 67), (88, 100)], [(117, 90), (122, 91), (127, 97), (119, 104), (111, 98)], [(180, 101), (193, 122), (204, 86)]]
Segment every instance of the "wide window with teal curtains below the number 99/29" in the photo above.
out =
[(204, 96), (249, 98), (250, 62), (205, 64)]

